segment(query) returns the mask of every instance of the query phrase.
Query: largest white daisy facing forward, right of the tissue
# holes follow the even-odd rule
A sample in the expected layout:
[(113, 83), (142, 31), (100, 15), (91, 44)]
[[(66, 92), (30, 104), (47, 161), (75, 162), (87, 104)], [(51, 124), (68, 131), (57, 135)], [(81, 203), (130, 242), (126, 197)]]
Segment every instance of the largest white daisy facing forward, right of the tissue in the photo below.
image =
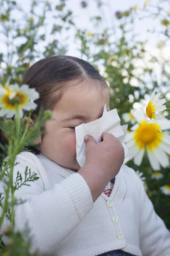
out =
[(160, 166), (167, 168), (170, 135), (162, 131), (170, 129), (170, 120), (146, 121), (142, 110), (136, 111), (136, 120), (138, 123), (133, 125), (125, 136), (130, 160), (133, 159), (134, 163), (140, 166), (146, 151), (153, 170), (160, 170)]

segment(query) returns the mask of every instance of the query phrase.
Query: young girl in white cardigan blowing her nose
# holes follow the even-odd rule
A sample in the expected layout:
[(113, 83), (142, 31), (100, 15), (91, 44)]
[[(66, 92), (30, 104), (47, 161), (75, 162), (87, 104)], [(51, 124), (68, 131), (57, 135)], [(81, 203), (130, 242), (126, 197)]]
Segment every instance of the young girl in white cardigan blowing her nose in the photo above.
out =
[[(40, 152), (21, 152), (14, 166), (14, 180), (18, 171), (24, 177), (26, 166), (40, 177), (15, 192), (16, 198), (27, 200), (15, 207), (14, 221), (20, 231), (28, 223), (31, 252), (170, 256), (170, 233), (136, 172), (122, 165), (120, 141), (109, 133), (98, 144), (85, 137), (86, 162), (82, 168), (77, 163), (75, 127), (99, 119), (105, 104), (109, 111), (108, 85), (95, 68), (79, 58), (54, 56), (30, 67), (23, 84), (40, 93), (32, 116), (40, 106), (52, 111), (45, 135), (35, 141)], [(5, 220), (2, 230), (8, 224)], [(3, 242), (7, 244), (7, 236)]]

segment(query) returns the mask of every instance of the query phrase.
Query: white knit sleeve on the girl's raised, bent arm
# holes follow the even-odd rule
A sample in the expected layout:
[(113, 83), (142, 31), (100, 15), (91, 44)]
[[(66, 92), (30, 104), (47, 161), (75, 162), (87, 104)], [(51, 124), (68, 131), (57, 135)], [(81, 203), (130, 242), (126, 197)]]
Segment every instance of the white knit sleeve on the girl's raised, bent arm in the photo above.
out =
[[(31, 253), (37, 250), (39, 255), (51, 255), (68, 239), (93, 207), (90, 189), (84, 178), (75, 173), (55, 184), (50, 190), (44, 191), (42, 178), (35, 161), (30, 160), (30, 157), (23, 159), (20, 154), (16, 161), (19, 164), (14, 166), (14, 181), (18, 171), (22, 177), (25, 177), (26, 166), (36, 172), (40, 179), (27, 182), (31, 186), (21, 186), (15, 191), (15, 198), (27, 201), (15, 206), (14, 230), (23, 232), (28, 224), (32, 237)], [(5, 183), (1, 180), (0, 193), (4, 191)], [(0, 207), (1, 215), (2, 208)], [(0, 234), (7, 225), (9, 225), (9, 220), (5, 219)], [(7, 244), (8, 237), (3, 236), (2, 240), (4, 244)]]

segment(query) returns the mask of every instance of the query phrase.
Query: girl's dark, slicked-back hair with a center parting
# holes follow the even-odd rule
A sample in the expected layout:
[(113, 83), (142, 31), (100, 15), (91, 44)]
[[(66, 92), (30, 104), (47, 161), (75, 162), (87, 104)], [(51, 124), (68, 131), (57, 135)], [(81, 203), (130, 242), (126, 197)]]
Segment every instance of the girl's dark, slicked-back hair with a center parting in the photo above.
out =
[[(74, 83), (69, 83), (70, 81)], [(94, 84), (94, 81), (99, 91), (108, 87), (99, 72), (82, 59), (61, 55), (37, 61), (28, 69), (22, 81), (22, 84), (28, 84), (30, 88), (34, 87), (40, 93), (40, 98), (35, 100), (37, 108), (32, 112), (31, 117), (38, 115), (41, 106), (44, 110), (52, 111), (62, 98), (65, 89), (80, 83), (82, 87), (87, 83)], [(6, 143), (3, 134), (1, 134), (1, 142)]]

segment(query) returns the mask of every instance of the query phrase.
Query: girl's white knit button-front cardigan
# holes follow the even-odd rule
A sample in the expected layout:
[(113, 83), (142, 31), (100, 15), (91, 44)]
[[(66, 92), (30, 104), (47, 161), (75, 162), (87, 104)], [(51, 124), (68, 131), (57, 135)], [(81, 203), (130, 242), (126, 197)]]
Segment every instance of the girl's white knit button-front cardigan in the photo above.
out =
[[(16, 161), (20, 163), (14, 166), (14, 181), (18, 171), (25, 177), (26, 166), (40, 177), (15, 192), (17, 198), (27, 199), (15, 207), (14, 221), (20, 231), (28, 221), (31, 252), (96, 256), (122, 249), (137, 256), (170, 256), (170, 233), (133, 169), (123, 165), (110, 197), (102, 193), (93, 203), (90, 189), (78, 173), (42, 154), (21, 152)], [(1, 207), (0, 211), (1, 215)], [(4, 221), (2, 229), (7, 224)], [(3, 236), (3, 242), (7, 241)]]

